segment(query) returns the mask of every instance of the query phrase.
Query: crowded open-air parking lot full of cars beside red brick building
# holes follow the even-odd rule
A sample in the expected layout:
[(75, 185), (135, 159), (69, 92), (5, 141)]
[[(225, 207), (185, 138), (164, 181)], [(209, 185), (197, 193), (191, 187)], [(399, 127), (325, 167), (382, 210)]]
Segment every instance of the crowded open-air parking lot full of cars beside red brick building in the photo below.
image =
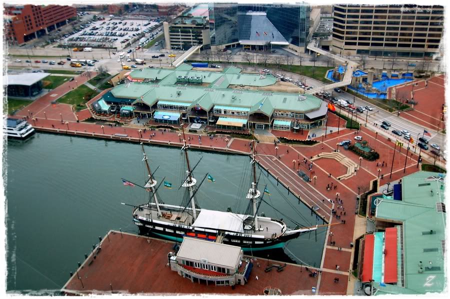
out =
[[(151, 39), (151, 29), (159, 22), (147, 19), (112, 19), (91, 21), (60, 41), (70, 47), (110, 47), (122, 49), (126, 43), (138, 37), (140, 33)], [(147, 32), (145, 32), (147, 31)], [(153, 30), (153, 31), (157, 31)]]

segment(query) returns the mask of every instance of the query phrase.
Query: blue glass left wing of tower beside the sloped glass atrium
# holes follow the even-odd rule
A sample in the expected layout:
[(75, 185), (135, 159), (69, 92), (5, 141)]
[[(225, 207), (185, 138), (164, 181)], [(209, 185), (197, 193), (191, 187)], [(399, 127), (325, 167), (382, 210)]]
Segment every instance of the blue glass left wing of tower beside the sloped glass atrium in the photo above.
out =
[(237, 3), (208, 3), (211, 45), (238, 42)]

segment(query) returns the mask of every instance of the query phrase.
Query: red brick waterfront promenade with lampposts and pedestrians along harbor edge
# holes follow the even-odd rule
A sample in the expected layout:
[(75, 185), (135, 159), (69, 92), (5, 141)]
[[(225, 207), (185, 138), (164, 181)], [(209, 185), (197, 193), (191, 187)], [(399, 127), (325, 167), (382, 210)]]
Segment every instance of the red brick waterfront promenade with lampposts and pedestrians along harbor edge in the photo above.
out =
[[(80, 80), (82, 81), (82, 79)], [(61, 90), (57, 90), (56, 88), (55, 92), (63, 94), (63, 92), (68, 90), (67, 88), (62, 88)], [(165, 145), (181, 145), (182, 140), (178, 136), (178, 131), (169, 132), (161, 129), (150, 131), (142, 129), (139, 132), (135, 127), (109, 125), (101, 127), (95, 123), (76, 122), (75, 113), (71, 109), (57, 108), (60, 105), (65, 105), (57, 104), (54, 107), (50, 103), (56, 97), (49, 98), (50, 95), (44, 95), (44, 99), (36, 100), (22, 109), (18, 115), (26, 116), (28, 114), (27, 110), (30, 110), (35, 120), (31, 119), (30, 121), (32, 117), (29, 117), (28, 121), (37, 130), (134, 142), (142, 141)], [(42, 109), (44, 108), (46, 113), (42, 115)], [(52, 111), (50, 109), (56, 110)], [(85, 116), (87, 116), (86, 111), (80, 111), (78, 115), (81, 113), (85, 113)], [(45, 119), (45, 116), (47, 119)], [(60, 116), (62, 116), (62, 121)], [(150, 136), (151, 133), (155, 133), (155, 136)], [(114, 134), (126, 134), (126, 137), (116, 136)], [(311, 170), (308, 169), (307, 165), (310, 163), (312, 156), (321, 152), (332, 152), (336, 149), (337, 142), (344, 139), (353, 140), (355, 135), (354, 130), (342, 128), (339, 133), (333, 131), (333, 133), (327, 134), (324, 142), (319, 142), (312, 146), (278, 144), (278, 149), (276, 149), (273, 143), (259, 142), (256, 147), (258, 152), (257, 160), (261, 167), (264, 170), (268, 168), (269, 173), (274, 177), (278, 177), (284, 186), (289, 186), (289, 190), (297, 197), (299, 196), (305, 204), (308, 206), (318, 206), (316, 212), (321, 217), (324, 217), (325, 221), (333, 224), (328, 226), (327, 236), (325, 238), (328, 246), (324, 248), (322, 263), (320, 265), (322, 274), (317, 279), (317, 291), (319, 294), (346, 294), (347, 280), (349, 277), (348, 269), (350, 267), (352, 250), (354, 250), (354, 247), (352, 248), (350, 243), (354, 241), (353, 230), (356, 217), (355, 210), (357, 209), (356, 196), (358, 193), (367, 191), (370, 182), (377, 179), (378, 174), (380, 176), (383, 175), (383, 178), (380, 179), (380, 184), (382, 185), (418, 170), (416, 168), (417, 154), (409, 152), (408, 157), (406, 157), (406, 149), (402, 148), (398, 151), (397, 147), (395, 158), (393, 159), (392, 177), (389, 178), (392, 156), (394, 154), (394, 144), (385, 137), (379, 134), (376, 135), (365, 127), (362, 127), (357, 134), (361, 135), (363, 140), (368, 141), (368, 144), (380, 154), (380, 158), (377, 161), (359, 160), (359, 156), (355, 153), (339, 147), (339, 151), (345, 157), (358, 165), (360, 163), (360, 168), (355, 173), (356, 175), (342, 180), (337, 180), (336, 177), (346, 171), (346, 168), (342, 164), (337, 163), (337, 161), (318, 159), (313, 162)], [(186, 133), (186, 138), (188, 138), (187, 143), (195, 148), (236, 153), (249, 152), (249, 140), (246, 139), (231, 138), (226, 141), (226, 136), (216, 136), (213, 138), (201, 136), (199, 140), (197, 134), (189, 133)], [(321, 137), (316, 138), (316, 140), (321, 141)], [(307, 161), (306, 163), (303, 162), (304, 159)], [(384, 166), (381, 166), (383, 161)], [(403, 173), (405, 161), (406, 168)], [(380, 169), (379, 173), (378, 169)], [(316, 179), (305, 182), (298, 176), (297, 170), (305, 172), (311, 178), (315, 175)], [(330, 177), (328, 177), (329, 174), (331, 174)], [(331, 186), (329, 191), (327, 191), (327, 185)], [(336, 201), (336, 196), (343, 201), (342, 204)], [(340, 216), (340, 219), (336, 216), (331, 216), (331, 208), (337, 210), (336, 216)], [(345, 224), (342, 223), (344, 220)], [(335, 242), (335, 244), (331, 245), (331, 241)], [(342, 247), (342, 250), (337, 250), (338, 247)], [(336, 264), (339, 265), (338, 271), (335, 268)], [(338, 283), (333, 282), (334, 277), (339, 277)]]

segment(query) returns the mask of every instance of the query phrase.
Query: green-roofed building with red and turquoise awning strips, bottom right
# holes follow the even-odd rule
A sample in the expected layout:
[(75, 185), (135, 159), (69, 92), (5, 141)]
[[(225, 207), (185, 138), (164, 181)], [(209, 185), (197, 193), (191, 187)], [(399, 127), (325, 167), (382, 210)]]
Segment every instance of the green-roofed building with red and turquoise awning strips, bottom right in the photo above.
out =
[(372, 295), (444, 291), (444, 194), (445, 174), (419, 171), (402, 178), (401, 200), (376, 199), (379, 231), (365, 236), (359, 256)]

